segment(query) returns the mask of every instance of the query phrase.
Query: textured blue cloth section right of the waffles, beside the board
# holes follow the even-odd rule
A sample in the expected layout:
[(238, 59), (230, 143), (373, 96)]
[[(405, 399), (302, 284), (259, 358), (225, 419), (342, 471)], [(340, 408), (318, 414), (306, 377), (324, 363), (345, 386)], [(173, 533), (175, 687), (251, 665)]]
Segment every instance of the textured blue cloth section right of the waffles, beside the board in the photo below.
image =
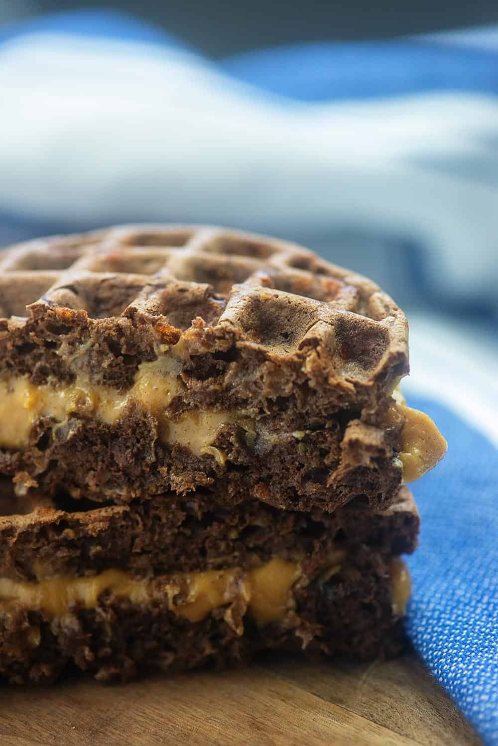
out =
[(498, 744), (498, 451), (432, 399), (410, 397), (447, 437), (448, 453), (412, 485), (420, 547), (409, 558), (408, 629), (432, 674)]

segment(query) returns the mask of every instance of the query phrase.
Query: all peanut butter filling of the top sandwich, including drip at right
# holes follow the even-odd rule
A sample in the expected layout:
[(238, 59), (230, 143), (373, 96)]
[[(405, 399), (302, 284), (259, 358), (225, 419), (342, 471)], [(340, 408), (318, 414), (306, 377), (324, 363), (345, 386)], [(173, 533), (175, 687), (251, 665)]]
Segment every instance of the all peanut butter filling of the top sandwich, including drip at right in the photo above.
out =
[[(169, 417), (168, 406), (184, 387), (180, 369), (181, 361), (167, 354), (151, 363), (141, 363), (133, 386), (124, 394), (90, 384), (81, 374), (75, 383), (63, 386), (37, 386), (30, 383), (28, 377), (3, 380), (0, 382), (0, 447), (26, 448), (31, 428), (42, 417), (52, 419), (55, 429), (66, 424), (73, 413), (114, 424), (124, 416), (128, 406), (139, 404), (156, 417), (160, 439), (166, 445), (181, 445), (196, 456), (209, 455), (224, 466), (224, 451), (212, 446), (218, 428), (223, 424), (240, 424), (251, 437), (256, 434), (255, 423), (244, 412), (223, 410), (195, 410), (179, 419)], [(398, 388), (394, 389), (393, 398), (392, 407), (406, 420), (398, 454), (403, 465), (403, 481), (413, 482), (441, 460), (447, 451), (447, 442), (429, 416), (406, 405)], [(297, 442), (305, 434), (293, 433)], [(279, 439), (275, 433), (267, 437), (270, 444)]]

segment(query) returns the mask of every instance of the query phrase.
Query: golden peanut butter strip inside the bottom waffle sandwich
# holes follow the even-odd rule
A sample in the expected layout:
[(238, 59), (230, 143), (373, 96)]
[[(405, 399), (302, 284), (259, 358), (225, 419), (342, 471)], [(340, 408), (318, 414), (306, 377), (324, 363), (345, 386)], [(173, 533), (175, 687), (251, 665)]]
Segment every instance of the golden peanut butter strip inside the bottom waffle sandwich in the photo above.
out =
[(233, 584), (238, 583), (248, 612), (263, 627), (285, 615), (291, 587), (300, 575), (299, 562), (276, 557), (248, 571), (229, 568), (152, 579), (139, 579), (127, 571), (113, 569), (91, 577), (45, 577), (35, 583), (0, 578), (0, 608), (2, 603), (19, 602), (28, 609), (60, 617), (77, 604), (95, 608), (100, 596), (110, 592), (137, 605), (166, 597), (175, 614), (201, 621), (209, 612), (230, 602)]

